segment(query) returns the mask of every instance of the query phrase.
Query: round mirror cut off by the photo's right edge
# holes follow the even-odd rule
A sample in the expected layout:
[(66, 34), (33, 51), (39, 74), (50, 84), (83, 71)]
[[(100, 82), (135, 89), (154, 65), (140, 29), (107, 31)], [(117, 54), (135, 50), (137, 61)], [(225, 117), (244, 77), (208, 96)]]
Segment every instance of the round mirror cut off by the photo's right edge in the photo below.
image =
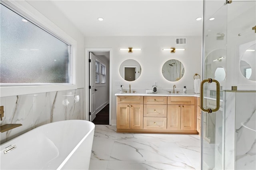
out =
[(244, 52), (240, 61), (240, 71), (246, 79), (256, 80), (256, 44)]

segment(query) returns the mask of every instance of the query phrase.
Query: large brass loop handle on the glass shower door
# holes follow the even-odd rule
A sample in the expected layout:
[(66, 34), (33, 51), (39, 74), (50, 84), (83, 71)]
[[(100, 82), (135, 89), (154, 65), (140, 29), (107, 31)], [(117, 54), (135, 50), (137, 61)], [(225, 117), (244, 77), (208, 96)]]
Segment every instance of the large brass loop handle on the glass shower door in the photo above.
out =
[[(216, 83), (216, 108), (215, 109), (204, 109), (204, 83)], [(220, 83), (217, 80), (214, 79), (205, 79), (203, 81), (201, 81), (200, 83), (200, 109), (204, 112), (208, 112), (208, 113), (212, 113), (212, 112), (216, 112), (220, 109)]]

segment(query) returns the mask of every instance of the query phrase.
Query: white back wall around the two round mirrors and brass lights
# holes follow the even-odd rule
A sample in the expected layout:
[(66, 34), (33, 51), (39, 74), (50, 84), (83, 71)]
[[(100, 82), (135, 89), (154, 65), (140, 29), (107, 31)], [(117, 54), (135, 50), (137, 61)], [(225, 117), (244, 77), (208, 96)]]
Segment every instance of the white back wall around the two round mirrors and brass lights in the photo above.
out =
[[(187, 37), (186, 45), (175, 45), (176, 37), (85, 37), (85, 48), (112, 48), (112, 125), (116, 125), (116, 97), (120, 85), (115, 85), (115, 81), (120, 81), (124, 89), (152, 89), (154, 82), (158, 82), (158, 89), (176, 89), (182, 91), (183, 86), (193, 92), (194, 74), (201, 73), (201, 37)], [(120, 51), (120, 48), (141, 48), (141, 51)], [(185, 51), (163, 51), (163, 48), (185, 48)], [(125, 81), (119, 73), (119, 66), (126, 59), (135, 59), (142, 67), (141, 75), (136, 81)], [(162, 65), (169, 59), (178, 59), (185, 67), (182, 79), (170, 82), (162, 76)], [(110, 63), (111, 65), (111, 63)], [(145, 91), (144, 91), (145, 92)]]

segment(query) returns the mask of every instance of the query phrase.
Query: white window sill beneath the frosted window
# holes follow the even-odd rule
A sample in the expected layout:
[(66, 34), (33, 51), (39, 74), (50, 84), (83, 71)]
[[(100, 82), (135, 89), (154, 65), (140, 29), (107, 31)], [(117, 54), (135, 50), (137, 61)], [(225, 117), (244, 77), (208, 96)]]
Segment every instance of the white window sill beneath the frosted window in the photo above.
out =
[(0, 87), (0, 97), (46, 93), (51, 91), (73, 90), (77, 85), (40, 85), (40, 86), (12, 86)]

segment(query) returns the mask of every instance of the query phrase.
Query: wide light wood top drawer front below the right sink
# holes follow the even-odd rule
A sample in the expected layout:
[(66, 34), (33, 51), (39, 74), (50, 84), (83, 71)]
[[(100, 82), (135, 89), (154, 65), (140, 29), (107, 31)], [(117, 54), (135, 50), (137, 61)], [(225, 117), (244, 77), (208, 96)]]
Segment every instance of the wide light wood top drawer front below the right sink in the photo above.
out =
[(194, 105), (195, 97), (168, 96), (168, 105)]

